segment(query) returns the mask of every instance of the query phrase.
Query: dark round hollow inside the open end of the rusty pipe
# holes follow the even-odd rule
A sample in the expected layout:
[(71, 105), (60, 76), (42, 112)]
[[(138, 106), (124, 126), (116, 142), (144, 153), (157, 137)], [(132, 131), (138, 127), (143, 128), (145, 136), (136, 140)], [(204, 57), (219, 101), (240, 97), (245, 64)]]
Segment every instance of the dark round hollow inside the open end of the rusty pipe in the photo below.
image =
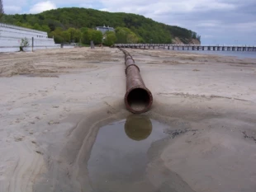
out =
[(128, 105), (136, 111), (144, 110), (149, 106), (149, 92), (142, 88), (135, 88), (127, 96)]

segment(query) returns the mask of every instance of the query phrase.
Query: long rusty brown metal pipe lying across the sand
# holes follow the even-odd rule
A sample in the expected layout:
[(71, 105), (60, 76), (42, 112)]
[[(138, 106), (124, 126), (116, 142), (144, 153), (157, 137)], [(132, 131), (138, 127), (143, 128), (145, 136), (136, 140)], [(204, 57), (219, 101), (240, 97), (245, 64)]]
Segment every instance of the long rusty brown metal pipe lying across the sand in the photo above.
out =
[(121, 51), (125, 54), (126, 61), (126, 109), (134, 114), (145, 113), (153, 103), (153, 96), (145, 87), (140, 76), (140, 68), (135, 64), (135, 60), (125, 49)]

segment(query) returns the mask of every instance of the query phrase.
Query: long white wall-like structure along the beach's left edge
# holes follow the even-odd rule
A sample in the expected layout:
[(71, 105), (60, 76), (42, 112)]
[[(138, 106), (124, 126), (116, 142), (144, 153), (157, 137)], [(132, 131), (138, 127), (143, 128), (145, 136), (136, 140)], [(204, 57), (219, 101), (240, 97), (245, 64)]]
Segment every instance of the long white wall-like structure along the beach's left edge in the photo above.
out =
[(47, 32), (31, 30), (21, 26), (12, 26), (0, 23), (0, 52), (15, 52), (20, 50), (21, 39), (27, 38), (32, 49), (32, 37), (34, 38), (34, 49), (59, 48), (55, 40), (48, 38)]

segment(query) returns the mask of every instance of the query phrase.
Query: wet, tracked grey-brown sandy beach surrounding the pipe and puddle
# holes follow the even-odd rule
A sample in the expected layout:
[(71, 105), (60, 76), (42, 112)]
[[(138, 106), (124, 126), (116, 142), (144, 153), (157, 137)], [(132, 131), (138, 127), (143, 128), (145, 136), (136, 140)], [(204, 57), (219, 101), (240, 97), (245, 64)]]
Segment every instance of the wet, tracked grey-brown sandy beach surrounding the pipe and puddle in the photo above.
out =
[[(127, 50), (154, 96), (145, 115), (169, 125), (148, 151), (151, 185), (254, 192), (256, 59)], [(122, 52), (0, 54), (0, 87), (0, 191), (94, 191), (87, 162), (97, 132), (130, 115)]]

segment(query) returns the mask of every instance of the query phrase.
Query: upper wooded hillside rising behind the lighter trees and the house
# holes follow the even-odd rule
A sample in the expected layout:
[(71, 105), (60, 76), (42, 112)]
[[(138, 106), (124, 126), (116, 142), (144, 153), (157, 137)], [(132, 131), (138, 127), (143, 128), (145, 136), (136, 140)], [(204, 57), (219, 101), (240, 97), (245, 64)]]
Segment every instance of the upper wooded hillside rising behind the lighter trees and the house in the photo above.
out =
[[(45, 30), (51, 34), (56, 29), (69, 30), (93, 28), (95, 26), (126, 27), (130, 29), (140, 43), (172, 43), (178, 37), (184, 43), (200, 36), (192, 30), (178, 26), (168, 26), (145, 18), (145, 16), (123, 12), (101, 12), (86, 8), (59, 8), (40, 14), (22, 14), (2, 16), (2, 22), (25, 26), (36, 30)], [(82, 33), (83, 34), (83, 33)], [(78, 38), (77, 38), (78, 39)]]

